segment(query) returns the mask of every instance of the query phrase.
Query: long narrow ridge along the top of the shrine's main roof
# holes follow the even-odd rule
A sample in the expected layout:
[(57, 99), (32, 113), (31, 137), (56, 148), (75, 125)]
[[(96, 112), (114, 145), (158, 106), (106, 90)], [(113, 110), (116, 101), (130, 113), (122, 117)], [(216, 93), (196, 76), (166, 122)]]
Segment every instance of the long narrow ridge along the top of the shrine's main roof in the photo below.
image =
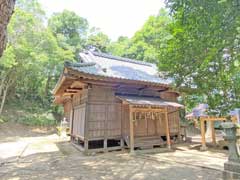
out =
[(114, 55), (102, 53), (102, 52), (96, 52), (96, 51), (87, 51), (86, 52), (85, 51), (84, 53), (89, 53), (89, 54), (93, 54), (94, 56), (104, 57), (104, 58), (118, 60), (118, 61), (140, 64), (140, 65), (144, 65), (144, 66), (150, 66), (150, 67), (156, 66), (156, 64), (154, 64), (154, 63), (144, 62), (144, 61), (120, 57), (120, 56), (114, 56)]

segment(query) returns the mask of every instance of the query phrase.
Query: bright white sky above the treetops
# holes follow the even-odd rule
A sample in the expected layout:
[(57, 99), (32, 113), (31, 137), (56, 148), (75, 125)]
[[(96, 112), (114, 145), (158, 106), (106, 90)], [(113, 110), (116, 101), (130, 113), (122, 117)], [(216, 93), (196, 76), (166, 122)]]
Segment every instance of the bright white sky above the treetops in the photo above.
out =
[(39, 0), (51, 15), (64, 9), (86, 18), (90, 26), (101, 29), (112, 40), (132, 37), (150, 15), (164, 7), (164, 0)]

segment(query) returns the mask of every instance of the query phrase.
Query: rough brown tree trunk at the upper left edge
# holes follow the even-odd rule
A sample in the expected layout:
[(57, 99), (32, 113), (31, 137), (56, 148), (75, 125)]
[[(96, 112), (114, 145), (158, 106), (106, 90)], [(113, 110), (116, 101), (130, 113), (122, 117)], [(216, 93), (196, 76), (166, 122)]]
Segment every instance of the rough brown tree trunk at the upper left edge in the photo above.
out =
[(0, 57), (7, 44), (7, 25), (12, 16), (15, 0), (0, 0)]

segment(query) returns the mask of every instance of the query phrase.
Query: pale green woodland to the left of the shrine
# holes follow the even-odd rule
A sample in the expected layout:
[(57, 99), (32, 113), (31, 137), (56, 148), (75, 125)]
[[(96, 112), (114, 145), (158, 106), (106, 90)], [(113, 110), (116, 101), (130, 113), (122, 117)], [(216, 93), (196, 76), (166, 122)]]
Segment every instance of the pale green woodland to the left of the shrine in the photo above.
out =
[[(18, 1), (8, 26), (9, 43), (0, 62), (0, 105), (4, 105), (7, 92), (8, 103), (18, 99), (21, 105), (30, 101), (40, 109), (51, 108), (51, 90), (64, 60), (73, 60), (74, 54), (58, 45), (53, 32), (44, 26), (44, 20), (37, 1)], [(48, 121), (39, 114), (23, 121), (26, 119), (42, 124), (44, 119)]]

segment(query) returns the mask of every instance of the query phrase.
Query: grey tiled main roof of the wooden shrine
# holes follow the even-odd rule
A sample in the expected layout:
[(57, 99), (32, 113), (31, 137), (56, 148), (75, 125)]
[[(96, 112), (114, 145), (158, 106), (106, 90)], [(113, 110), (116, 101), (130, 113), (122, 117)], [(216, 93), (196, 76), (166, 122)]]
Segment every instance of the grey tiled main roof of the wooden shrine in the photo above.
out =
[(172, 79), (159, 77), (155, 64), (91, 51), (80, 53), (80, 57), (81, 63), (67, 63), (65, 66), (96, 76), (166, 85), (172, 82)]

